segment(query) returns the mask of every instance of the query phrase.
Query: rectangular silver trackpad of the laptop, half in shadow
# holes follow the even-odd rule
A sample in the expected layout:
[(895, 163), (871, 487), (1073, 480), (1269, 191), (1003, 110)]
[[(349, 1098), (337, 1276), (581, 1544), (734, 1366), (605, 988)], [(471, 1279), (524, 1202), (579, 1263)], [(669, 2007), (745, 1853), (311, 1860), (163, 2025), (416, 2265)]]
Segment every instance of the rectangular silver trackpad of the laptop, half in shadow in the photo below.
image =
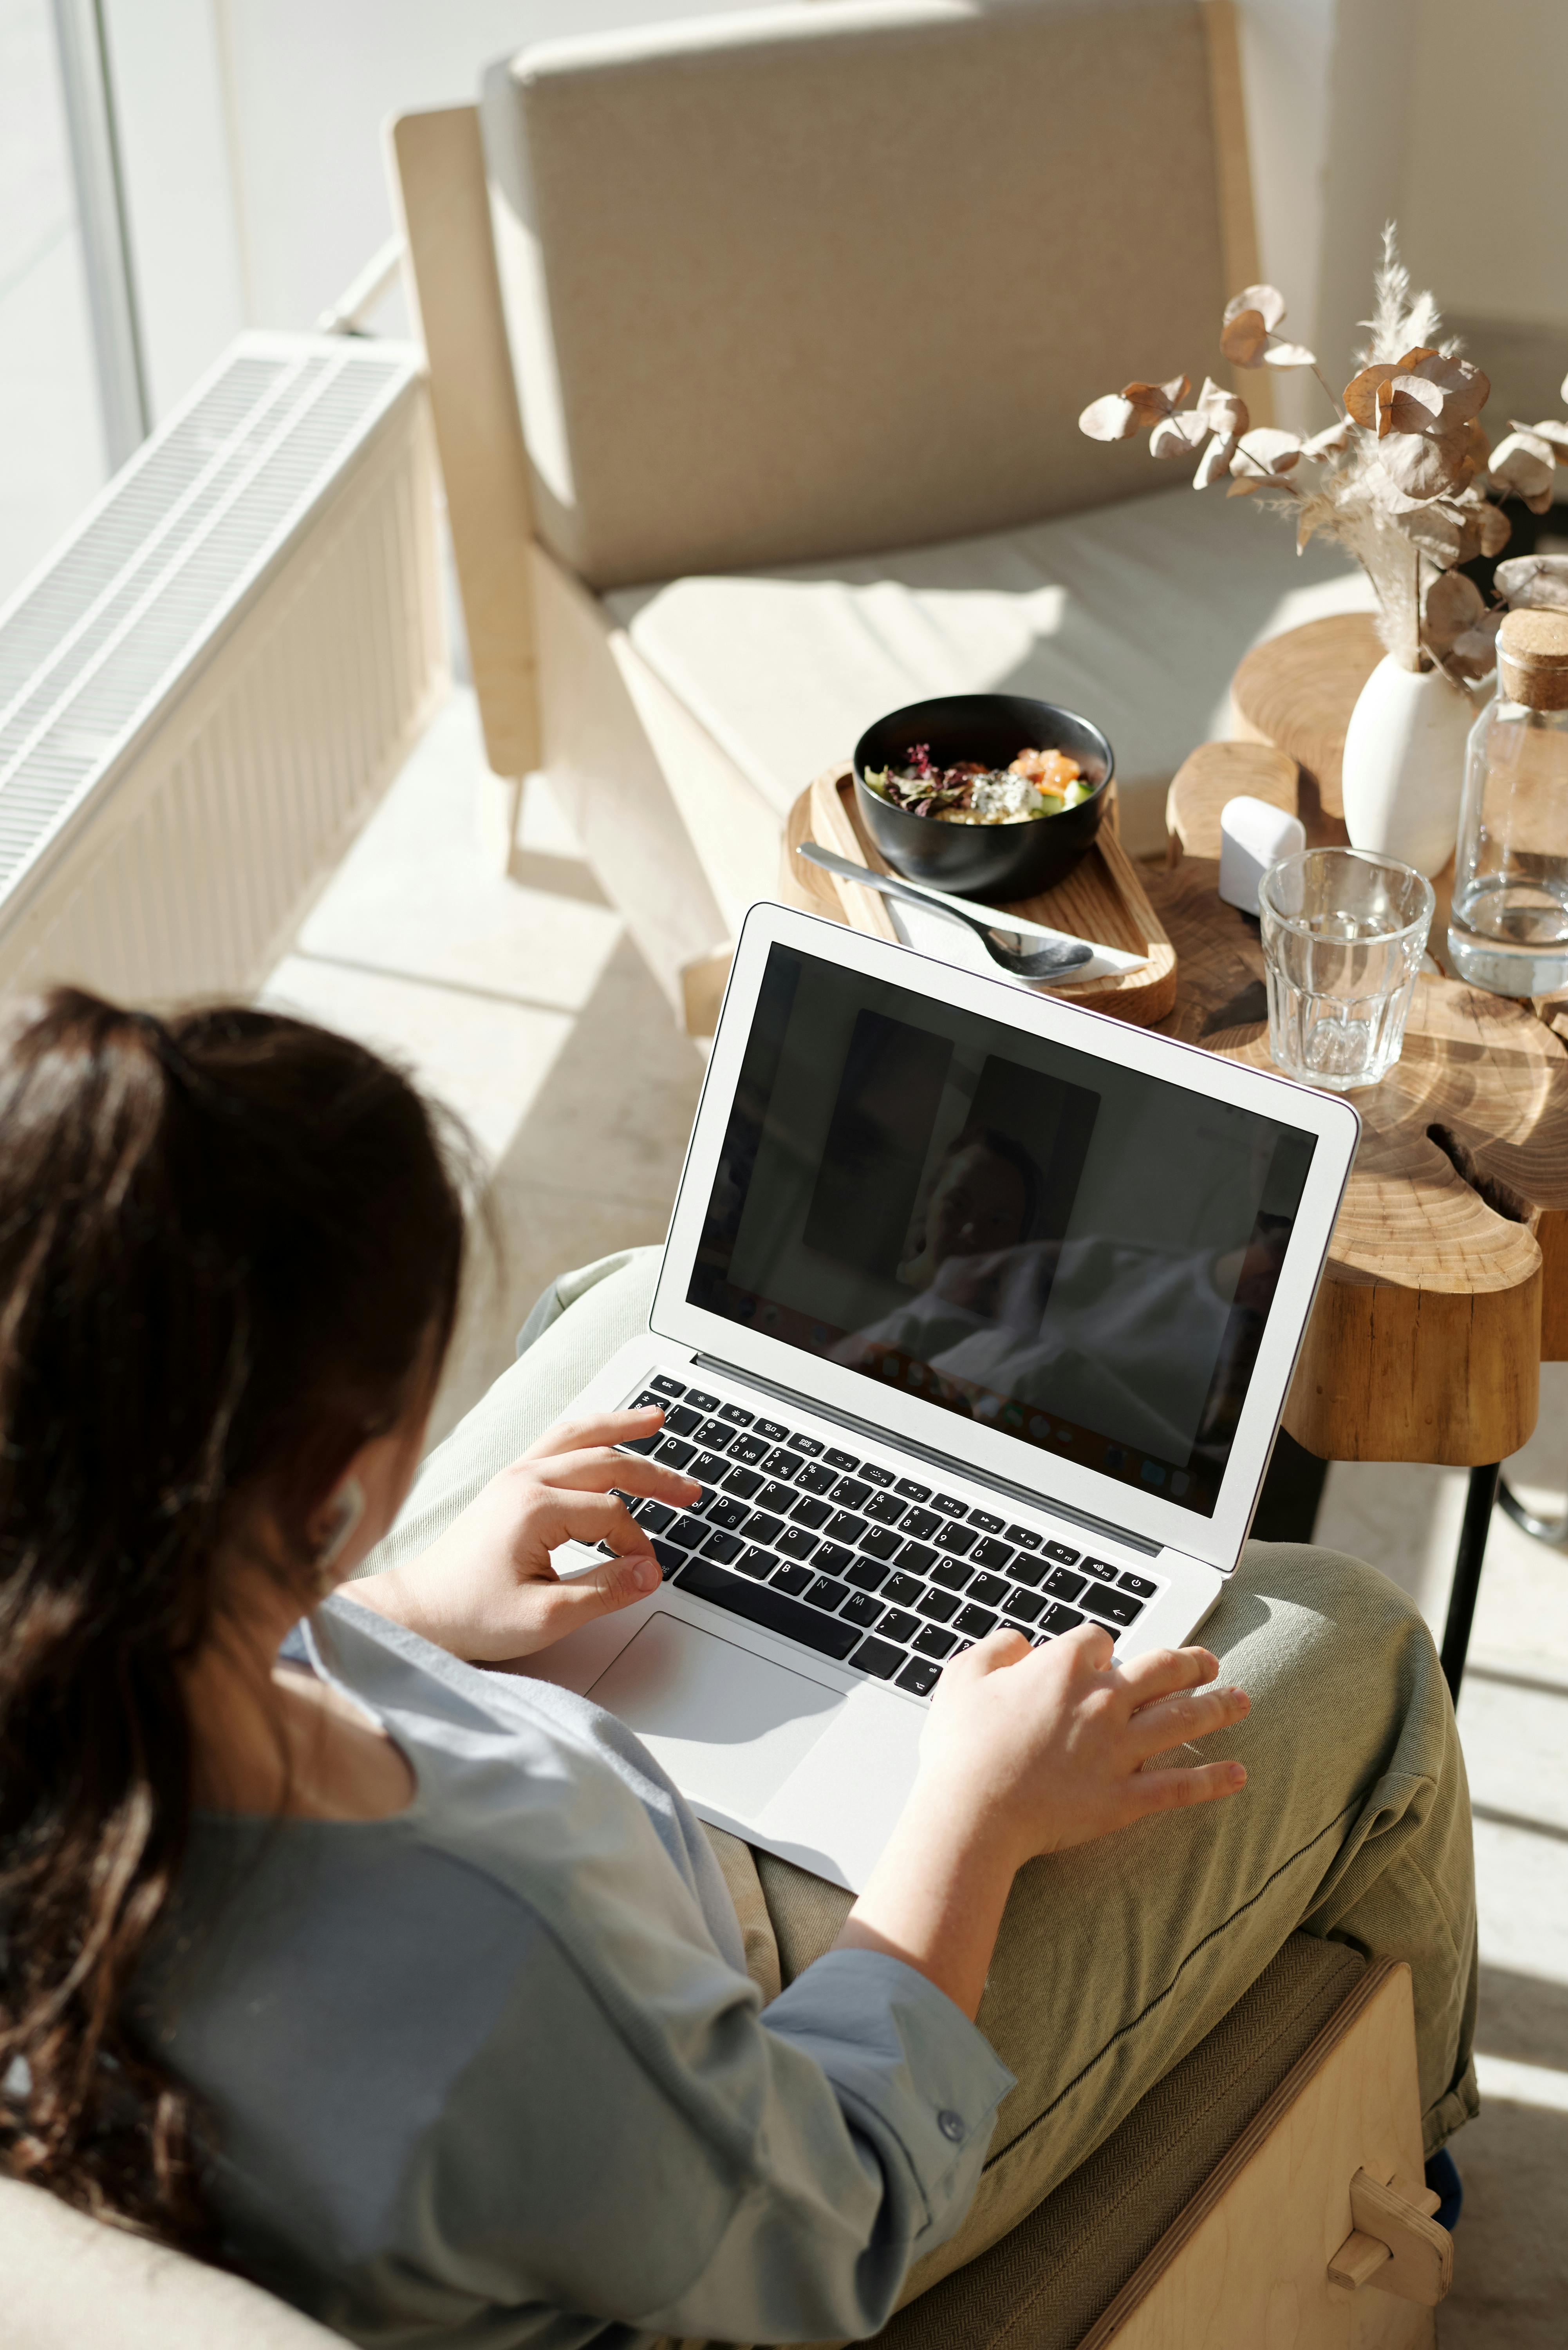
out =
[(844, 1706), (842, 1690), (663, 1612), (588, 1694), (637, 1732), (684, 1795), (738, 1817), (762, 1810)]

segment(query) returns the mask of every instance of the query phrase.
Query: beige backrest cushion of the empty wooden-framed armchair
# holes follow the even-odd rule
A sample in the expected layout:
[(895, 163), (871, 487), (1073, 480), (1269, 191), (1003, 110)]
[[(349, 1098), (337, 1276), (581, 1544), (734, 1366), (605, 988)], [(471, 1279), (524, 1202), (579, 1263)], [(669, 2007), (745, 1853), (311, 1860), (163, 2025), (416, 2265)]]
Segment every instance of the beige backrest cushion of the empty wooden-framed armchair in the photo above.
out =
[(484, 150), (538, 531), (590, 585), (1164, 479), (1077, 432), (1218, 367), (1197, 0), (827, 0), (543, 42)]

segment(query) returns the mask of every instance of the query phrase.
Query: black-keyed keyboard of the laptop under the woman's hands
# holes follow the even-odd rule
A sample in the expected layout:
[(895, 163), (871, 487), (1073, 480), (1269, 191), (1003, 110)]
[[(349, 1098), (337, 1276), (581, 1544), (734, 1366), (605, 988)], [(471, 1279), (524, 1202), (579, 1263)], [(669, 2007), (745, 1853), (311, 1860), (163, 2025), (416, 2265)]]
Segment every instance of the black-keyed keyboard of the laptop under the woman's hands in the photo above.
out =
[(703, 1485), (701, 1502), (623, 1495), (665, 1582), (818, 1657), (931, 1697), (952, 1657), (997, 1624), (1034, 1647), (1093, 1619), (1112, 1638), (1159, 1591), (1152, 1574), (752, 1412), (654, 1375), (628, 1410), (658, 1403), (646, 1452)]

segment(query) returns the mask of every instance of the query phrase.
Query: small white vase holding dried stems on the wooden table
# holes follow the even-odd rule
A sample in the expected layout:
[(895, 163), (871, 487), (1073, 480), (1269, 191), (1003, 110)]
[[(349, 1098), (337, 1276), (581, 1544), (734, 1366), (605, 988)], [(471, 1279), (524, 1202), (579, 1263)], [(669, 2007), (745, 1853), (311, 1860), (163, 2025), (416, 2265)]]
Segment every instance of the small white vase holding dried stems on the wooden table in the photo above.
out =
[(1385, 653), (1345, 733), (1345, 830), (1352, 848), (1441, 874), (1465, 790), (1476, 705), (1441, 670), (1403, 670)]

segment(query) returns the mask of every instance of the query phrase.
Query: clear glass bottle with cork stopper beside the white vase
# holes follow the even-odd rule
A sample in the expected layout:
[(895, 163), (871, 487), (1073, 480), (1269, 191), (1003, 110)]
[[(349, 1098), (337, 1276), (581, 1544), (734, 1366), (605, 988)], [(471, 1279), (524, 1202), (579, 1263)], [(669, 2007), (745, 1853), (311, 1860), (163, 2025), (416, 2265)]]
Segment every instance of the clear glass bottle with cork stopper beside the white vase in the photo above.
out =
[(1495, 996), (1568, 987), (1568, 611), (1512, 611), (1469, 733), (1448, 959)]

